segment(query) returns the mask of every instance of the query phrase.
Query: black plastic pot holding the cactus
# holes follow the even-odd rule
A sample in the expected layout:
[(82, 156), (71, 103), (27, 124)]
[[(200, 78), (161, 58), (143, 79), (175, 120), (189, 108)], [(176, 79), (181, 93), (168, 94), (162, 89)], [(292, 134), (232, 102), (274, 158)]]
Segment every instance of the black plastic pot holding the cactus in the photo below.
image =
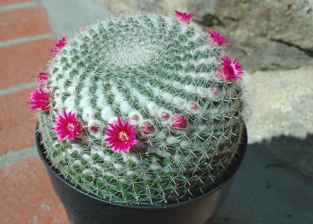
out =
[(227, 174), (223, 177), (223, 183), (213, 190), (191, 200), (165, 206), (127, 206), (102, 200), (94, 195), (88, 195), (83, 190), (74, 188), (74, 185), (64, 180), (51, 168), (51, 164), (43, 156), (45, 150), (39, 144), (39, 136), (36, 134), (38, 153), (46, 165), (54, 191), (63, 203), (71, 224), (212, 223), (216, 218), (218, 209), (229, 193), (233, 183), (233, 175), (244, 158), (247, 139), (245, 129), (235, 164), (227, 170)]

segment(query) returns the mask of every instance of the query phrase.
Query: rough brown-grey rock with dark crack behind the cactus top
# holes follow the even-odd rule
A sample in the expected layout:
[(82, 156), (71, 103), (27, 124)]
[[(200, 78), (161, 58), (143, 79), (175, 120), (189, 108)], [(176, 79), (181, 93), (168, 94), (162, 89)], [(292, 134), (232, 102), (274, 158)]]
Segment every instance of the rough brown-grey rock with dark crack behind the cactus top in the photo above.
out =
[(197, 14), (195, 21), (230, 40), (229, 52), (250, 71), (313, 64), (313, 0), (99, 1), (122, 13)]

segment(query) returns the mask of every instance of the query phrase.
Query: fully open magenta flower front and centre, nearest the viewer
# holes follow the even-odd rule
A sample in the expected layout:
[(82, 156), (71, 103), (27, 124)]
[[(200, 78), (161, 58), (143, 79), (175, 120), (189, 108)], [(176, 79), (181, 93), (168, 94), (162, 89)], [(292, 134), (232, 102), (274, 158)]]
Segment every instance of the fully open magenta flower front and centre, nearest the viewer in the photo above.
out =
[(131, 146), (138, 143), (135, 139), (136, 130), (132, 130), (133, 125), (129, 126), (129, 120), (123, 124), (120, 117), (117, 118), (117, 123), (113, 122), (109, 125), (110, 128), (105, 128), (106, 135), (109, 136), (104, 140), (108, 142), (106, 145), (114, 147), (113, 153), (117, 150), (129, 153)]

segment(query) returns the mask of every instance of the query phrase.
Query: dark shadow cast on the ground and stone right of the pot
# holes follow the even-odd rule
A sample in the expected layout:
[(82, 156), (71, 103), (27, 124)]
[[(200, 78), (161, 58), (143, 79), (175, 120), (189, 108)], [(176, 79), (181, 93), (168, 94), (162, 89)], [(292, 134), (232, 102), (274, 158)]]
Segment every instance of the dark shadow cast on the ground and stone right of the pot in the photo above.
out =
[(249, 144), (216, 223), (313, 223), (312, 162), (312, 134)]

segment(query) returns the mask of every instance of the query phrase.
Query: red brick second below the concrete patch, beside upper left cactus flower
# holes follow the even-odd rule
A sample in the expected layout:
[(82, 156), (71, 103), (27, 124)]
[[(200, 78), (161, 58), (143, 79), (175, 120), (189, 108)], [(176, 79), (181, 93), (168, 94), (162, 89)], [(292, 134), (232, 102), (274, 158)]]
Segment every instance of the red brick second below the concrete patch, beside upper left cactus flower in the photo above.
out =
[(35, 81), (58, 41), (46, 38), (0, 48), (0, 88)]

